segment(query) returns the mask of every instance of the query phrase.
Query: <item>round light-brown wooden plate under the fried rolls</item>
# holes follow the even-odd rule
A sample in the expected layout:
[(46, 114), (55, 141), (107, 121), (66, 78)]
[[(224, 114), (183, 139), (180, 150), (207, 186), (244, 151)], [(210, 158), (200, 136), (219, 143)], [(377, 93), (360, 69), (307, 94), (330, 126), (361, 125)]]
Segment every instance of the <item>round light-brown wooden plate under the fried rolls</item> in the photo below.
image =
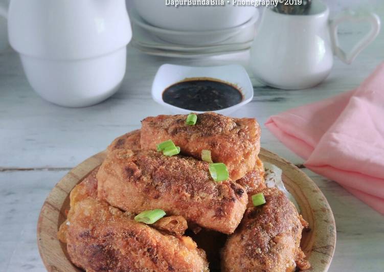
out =
[[(67, 173), (52, 189), (41, 208), (37, 224), (37, 243), (44, 265), (49, 271), (80, 271), (68, 258), (65, 244), (57, 239), (57, 231), (69, 209), (69, 194), (76, 184), (99, 166), (106, 152), (100, 152)], [(310, 231), (303, 232), (301, 241), (315, 271), (327, 271), (336, 243), (336, 228), (332, 211), (323, 193), (315, 183), (295, 165), (265, 149), (260, 152), (262, 161), (283, 170), (283, 182), (295, 196), (301, 214), (309, 222)]]

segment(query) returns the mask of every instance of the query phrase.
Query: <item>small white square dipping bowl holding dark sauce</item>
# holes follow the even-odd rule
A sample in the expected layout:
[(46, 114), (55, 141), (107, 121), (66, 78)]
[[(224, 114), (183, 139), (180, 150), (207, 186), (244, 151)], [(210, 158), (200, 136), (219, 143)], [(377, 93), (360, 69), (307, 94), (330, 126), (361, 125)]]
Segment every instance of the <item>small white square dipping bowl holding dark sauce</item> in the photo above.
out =
[[(169, 86), (188, 78), (213, 78), (231, 83), (238, 87), (243, 100), (231, 107), (214, 110), (218, 114), (229, 115), (241, 106), (249, 103), (253, 98), (253, 86), (250, 77), (243, 66), (238, 64), (191, 67), (173, 64), (163, 64), (156, 73), (152, 83), (152, 98), (157, 103), (169, 108), (174, 114), (190, 114), (190, 109), (175, 107), (163, 101), (163, 92)], [(204, 111), (193, 111), (202, 113)]]

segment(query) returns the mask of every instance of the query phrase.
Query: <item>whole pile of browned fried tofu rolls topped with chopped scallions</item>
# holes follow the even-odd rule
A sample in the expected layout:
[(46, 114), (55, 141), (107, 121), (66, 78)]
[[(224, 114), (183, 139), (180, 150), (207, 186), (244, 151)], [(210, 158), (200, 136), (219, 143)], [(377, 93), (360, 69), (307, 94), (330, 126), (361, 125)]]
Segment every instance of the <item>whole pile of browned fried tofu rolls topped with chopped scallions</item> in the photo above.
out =
[(281, 191), (265, 187), (259, 152), (255, 119), (145, 118), (72, 190), (58, 238), (86, 271), (307, 269), (306, 223)]

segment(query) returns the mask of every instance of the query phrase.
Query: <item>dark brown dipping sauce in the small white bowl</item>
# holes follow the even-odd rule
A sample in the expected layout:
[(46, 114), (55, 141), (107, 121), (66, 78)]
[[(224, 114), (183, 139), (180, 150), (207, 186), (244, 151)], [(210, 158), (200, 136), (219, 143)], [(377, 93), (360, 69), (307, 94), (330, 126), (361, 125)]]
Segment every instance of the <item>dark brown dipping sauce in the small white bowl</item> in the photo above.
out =
[(173, 106), (196, 110), (212, 111), (228, 108), (240, 103), (240, 91), (225, 82), (196, 79), (175, 83), (163, 92), (163, 101)]

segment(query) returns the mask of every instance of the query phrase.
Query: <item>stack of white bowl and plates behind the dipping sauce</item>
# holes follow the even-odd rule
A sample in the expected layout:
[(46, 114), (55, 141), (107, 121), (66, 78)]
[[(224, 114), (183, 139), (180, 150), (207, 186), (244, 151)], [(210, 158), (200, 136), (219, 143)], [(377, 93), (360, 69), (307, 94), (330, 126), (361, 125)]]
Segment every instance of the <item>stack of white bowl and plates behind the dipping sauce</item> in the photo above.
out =
[[(167, 7), (136, 0), (132, 42), (144, 53), (196, 58), (249, 50), (259, 13), (253, 7)], [(201, 19), (198, 19), (201, 18)]]

